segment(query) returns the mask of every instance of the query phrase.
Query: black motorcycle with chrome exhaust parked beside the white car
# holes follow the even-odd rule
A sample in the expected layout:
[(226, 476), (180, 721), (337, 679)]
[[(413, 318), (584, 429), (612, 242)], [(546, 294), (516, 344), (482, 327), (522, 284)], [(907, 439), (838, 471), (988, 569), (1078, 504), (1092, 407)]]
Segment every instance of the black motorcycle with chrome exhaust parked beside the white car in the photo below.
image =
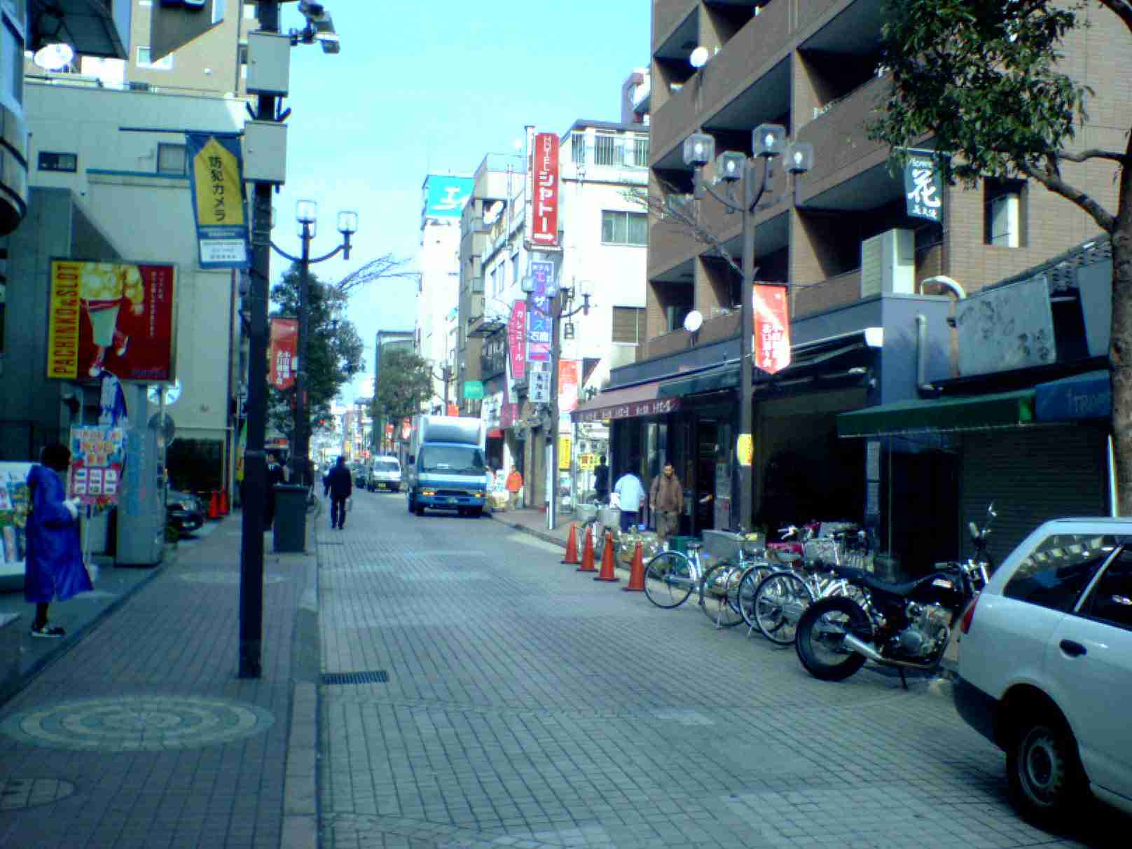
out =
[(987, 537), (995, 515), (992, 504), (981, 528), (968, 525), (975, 557), (936, 564), (934, 572), (915, 581), (893, 584), (861, 569), (830, 566), (861, 590), (860, 601), (831, 595), (806, 609), (795, 641), (801, 664), (815, 678), (840, 681), (872, 660), (895, 667), (906, 688), (906, 669), (936, 669), (952, 628), (987, 584)]

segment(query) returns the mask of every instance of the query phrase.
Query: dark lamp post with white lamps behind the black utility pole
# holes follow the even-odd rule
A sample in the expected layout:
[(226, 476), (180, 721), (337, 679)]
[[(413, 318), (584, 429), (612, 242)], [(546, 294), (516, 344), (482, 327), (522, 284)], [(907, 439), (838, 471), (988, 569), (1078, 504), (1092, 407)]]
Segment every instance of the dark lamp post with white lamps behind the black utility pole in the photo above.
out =
[(314, 200), (299, 200), (294, 207), (294, 217), (299, 223), (299, 237), (302, 239), (302, 254), (293, 257), (285, 250), (272, 242), (272, 250), (292, 263), (299, 263), (299, 368), (295, 371), (295, 401), (294, 401), (294, 428), (292, 430), (291, 452), (291, 481), (310, 486), (314, 481), (307, 480), (310, 471), (310, 422), (307, 412), (307, 383), (309, 374), (307, 371), (307, 348), (309, 344), (309, 312), (310, 312), (310, 266), (321, 263), (342, 254), (344, 259), (350, 258), (350, 237), (358, 232), (358, 213), (338, 213), (338, 232), (342, 233), (342, 243), (329, 254), (320, 257), (310, 256), (310, 240), (315, 238), (318, 230), (318, 204)]

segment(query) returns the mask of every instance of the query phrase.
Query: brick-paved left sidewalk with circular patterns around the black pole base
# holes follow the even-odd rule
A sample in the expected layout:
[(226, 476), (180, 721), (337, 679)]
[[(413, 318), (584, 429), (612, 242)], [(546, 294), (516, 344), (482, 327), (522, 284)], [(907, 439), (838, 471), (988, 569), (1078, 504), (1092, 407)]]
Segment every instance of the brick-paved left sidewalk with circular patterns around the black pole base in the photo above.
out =
[(240, 514), (52, 604), (69, 637), (27, 638), (0, 704), (0, 846), (317, 844), (316, 543), (264, 541), (258, 679), (238, 677)]

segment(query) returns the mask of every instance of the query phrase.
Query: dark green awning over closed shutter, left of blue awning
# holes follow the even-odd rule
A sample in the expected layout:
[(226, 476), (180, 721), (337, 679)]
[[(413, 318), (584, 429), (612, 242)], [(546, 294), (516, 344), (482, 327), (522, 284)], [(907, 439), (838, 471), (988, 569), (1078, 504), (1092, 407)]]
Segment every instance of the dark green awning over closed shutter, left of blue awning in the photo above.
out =
[(838, 436), (910, 436), (1017, 428), (1034, 421), (1034, 389), (919, 398), (838, 415)]

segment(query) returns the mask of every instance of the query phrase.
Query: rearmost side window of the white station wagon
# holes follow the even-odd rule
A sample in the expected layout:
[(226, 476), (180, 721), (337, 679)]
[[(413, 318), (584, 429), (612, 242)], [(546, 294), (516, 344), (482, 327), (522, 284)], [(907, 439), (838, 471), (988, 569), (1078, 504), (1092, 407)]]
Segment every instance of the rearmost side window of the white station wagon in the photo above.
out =
[(1047, 537), (1019, 564), (1002, 594), (1070, 612), (1115, 547), (1112, 537)]

